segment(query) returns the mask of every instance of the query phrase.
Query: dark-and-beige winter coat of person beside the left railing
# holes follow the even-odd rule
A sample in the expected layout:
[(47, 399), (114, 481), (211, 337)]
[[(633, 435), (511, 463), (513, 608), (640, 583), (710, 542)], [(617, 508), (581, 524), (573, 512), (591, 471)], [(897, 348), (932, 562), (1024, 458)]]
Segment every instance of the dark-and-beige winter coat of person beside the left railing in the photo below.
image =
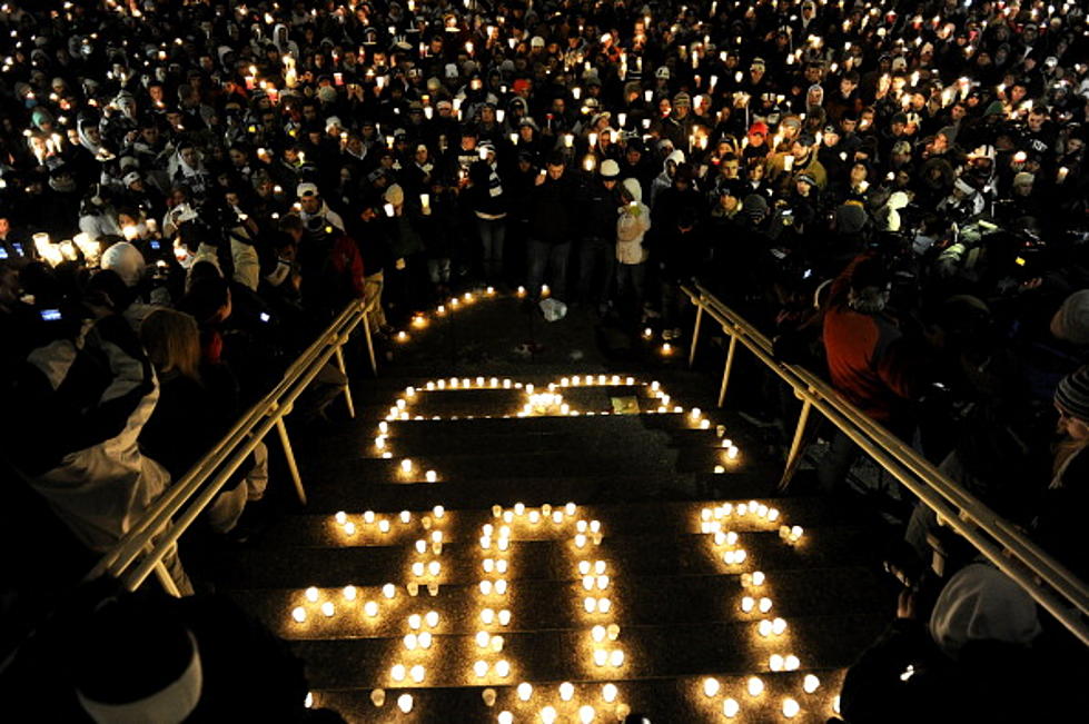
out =
[(12, 391), (12, 462), (86, 546), (103, 551), (170, 480), (137, 438), (159, 398), (151, 364), (120, 315), (79, 323), (32, 350)]

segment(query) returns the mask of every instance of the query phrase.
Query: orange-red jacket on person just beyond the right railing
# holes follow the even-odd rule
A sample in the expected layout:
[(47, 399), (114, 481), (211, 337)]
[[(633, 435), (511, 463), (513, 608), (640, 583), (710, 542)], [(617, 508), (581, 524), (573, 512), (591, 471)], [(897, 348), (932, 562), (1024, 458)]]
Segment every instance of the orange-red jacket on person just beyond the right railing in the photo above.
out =
[(824, 349), (832, 385), (869, 417), (889, 421), (915, 399), (918, 368), (900, 330), (881, 314), (848, 306), (851, 274), (864, 259), (852, 261), (832, 284), (824, 315)]

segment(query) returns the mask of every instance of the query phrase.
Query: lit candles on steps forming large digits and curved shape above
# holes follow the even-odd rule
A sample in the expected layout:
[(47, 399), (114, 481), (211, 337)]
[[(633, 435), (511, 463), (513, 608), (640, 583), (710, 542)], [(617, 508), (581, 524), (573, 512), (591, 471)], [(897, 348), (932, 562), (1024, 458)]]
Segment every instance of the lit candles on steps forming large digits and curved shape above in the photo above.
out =
[[(486, 296), (492, 296), (492, 292)], [(457, 299), (449, 300), (451, 306), (456, 306), (457, 301)], [(472, 304), (472, 297), (466, 297), (465, 304)], [(710, 430), (714, 427), (712, 433), (715, 435), (714, 448), (721, 455), (720, 464), (714, 467), (714, 472), (723, 473), (727, 467), (732, 468), (741, 464), (740, 449), (733, 439), (725, 437), (725, 427), (714, 426), (700, 408), (690, 408), (685, 411), (685, 408), (673, 403), (657, 381), (645, 383), (633, 377), (602, 374), (563, 377), (556, 383), (539, 388), (534, 384), (518, 383), (509, 378), (483, 376), (475, 379), (454, 377), (428, 380), (419, 386), (406, 388), (404, 394), (397, 397), (386, 418), (377, 424), (373, 438), (374, 449), (382, 457), (393, 457), (396, 435), (390, 423), (410, 424), (413, 419), (424, 419), (419, 415), (413, 417), (412, 407), (422, 404), (428, 395), (442, 394), (445, 390), (522, 390), (525, 401), (519, 411), (513, 415), (491, 416), (514, 418), (531, 415), (575, 416), (580, 411), (572, 409), (564, 400), (561, 394), (563, 388), (621, 385), (637, 386), (652, 400), (656, 400), (657, 410), (651, 409), (651, 413), (682, 415), (686, 427), (696, 430)], [(596, 414), (607, 415), (608, 411), (598, 410)], [(456, 419), (456, 416), (451, 416), (448, 419)], [(399, 459), (395, 475), (412, 477), (419, 476), (420, 473), (423, 479), (428, 483), (440, 479), (437, 470), (424, 472), (408, 457)], [(516, 544), (521, 540), (555, 540), (562, 549), (566, 551), (566, 555), (571, 556), (574, 586), (580, 592), (572, 616), (575, 621), (584, 622), (586, 626), (584, 643), (574, 649), (573, 663), (576, 668), (573, 674), (581, 672), (580, 678), (590, 681), (624, 676), (628, 662), (623, 645), (618, 643), (621, 626), (615, 621), (616, 606), (610, 595), (615, 573), (611, 571), (610, 563), (601, 556), (604, 537), (602, 522), (590, 518), (586, 512), (581, 510), (574, 503), (541, 507), (531, 507), (523, 503), (509, 507), (494, 505), (491, 514), (492, 522), (483, 524), (476, 536), (479, 545), (478, 571), (483, 572), (483, 576), (475, 584), (471, 584), (468, 589), (472, 592), (469, 595), (476, 597), (478, 608), (475, 621), (482, 628), (472, 636), (476, 655), (468, 662), (464, 684), (498, 686), (498, 690), (484, 688), (482, 700), (486, 707), (492, 707), (501, 698), (503, 700), (506, 708), (494, 715), (496, 721), (501, 722), (524, 718), (544, 722), (561, 720), (594, 722), (622, 718), (631, 710), (620, 701), (621, 692), (616, 684), (605, 682), (591, 687), (584, 684), (576, 686), (572, 682), (563, 682), (558, 686), (533, 684), (527, 681), (516, 683), (517, 661), (504, 656), (505, 638), (502, 632), (508, 631), (512, 625), (511, 596), (517, 595), (517, 582), (511, 578), (511, 574), (514, 573), (511, 567), (512, 557), (518, 549)], [(784, 638), (789, 628), (788, 622), (782, 617), (766, 617), (774, 607), (771, 595), (774, 592), (770, 589), (770, 582), (764, 573), (755, 568), (759, 561), (742, 547), (742, 543), (743, 537), (750, 533), (778, 532), (783, 544), (796, 547), (804, 539), (804, 530), (796, 525), (783, 524), (778, 508), (758, 500), (705, 504), (705, 507), (694, 510), (694, 519), (699, 533), (707, 537), (709, 549), (714, 553), (722, 573), (736, 576), (740, 582), (742, 595), (736, 599), (735, 611), (742, 618), (753, 617), (753, 641), (789, 643)], [(358, 621), (373, 627), (380, 625), (386, 614), (404, 612), (405, 606), (410, 606), (410, 602), (415, 599), (425, 583), (427, 592), (436, 596), (442, 583), (439, 577), (444, 575), (444, 567), (439, 562), (443, 546), (446, 538), (452, 533), (456, 533), (456, 528), (447, 529), (445, 535), (443, 530), (433, 529), (445, 523), (447, 523), (446, 512), (442, 505), (422, 513), (337, 512), (331, 516), (330, 525), (343, 536), (341, 545), (405, 545), (407, 551), (417, 556), (409, 562), (408, 573), (410, 577), (420, 581), (407, 583), (408, 596), (398, 596), (398, 586), (394, 583), (374, 589), (347, 585), (329, 592), (311, 586), (293, 602), (296, 605), (289, 607), (290, 625), (300, 631), (317, 626), (321, 626), (321, 631), (328, 631), (329, 625), (336, 625), (338, 622)], [(419, 528), (422, 535), (419, 533), (408, 535)], [(457, 537), (465, 539), (464, 535), (455, 536), (455, 542)], [(512, 543), (515, 545), (512, 546)], [(739, 571), (739, 567), (743, 569)], [(407, 614), (404, 618), (407, 629), (403, 631), (399, 646), (405, 659), (390, 661), (386, 667), (387, 681), (382, 683), (426, 687), (430, 681), (427, 662), (435, 659), (416, 657), (452, 655), (449, 649), (444, 653), (442, 646), (435, 648), (437, 639), (434, 634), (437, 633), (436, 628), (442, 624), (443, 616), (435, 609), (405, 612), (405, 614)], [(577, 661), (580, 653), (584, 655), (581, 664)], [(754, 662), (754, 666), (763, 672), (770, 671), (774, 676), (790, 675), (790, 672), (801, 667), (799, 657), (782, 648), (768, 652), (763, 656), (763, 664)], [(442, 666), (438, 668), (443, 670)], [(820, 697), (820, 702), (814, 698), (822, 691), (822, 682), (816, 675), (806, 673), (804, 676), (801, 674), (798, 676), (796, 681), (791, 682), (794, 686), (790, 691), (783, 690), (779, 682), (770, 690), (770, 695), (774, 696), (774, 711), (780, 717), (793, 720), (800, 715), (814, 713), (816, 712), (814, 706), (818, 704), (821, 712), (834, 708), (835, 701), (830, 700), (832, 704), (829, 705), (823, 702), (823, 696)], [(745, 716), (746, 705), (743, 702), (746, 700), (756, 702), (768, 698), (769, 684), (760, 676), (750, 676), (741, 683), (729, 683), (733, 678), (727, 677), (724, 683), (715, 676), (699, 677), (694, 680), (693, 695), (700, 701), (709, 702), (716, 715), (727, 720)], [(426, 690), (413, 691), (418, 695)], [(386, 698), (385, 691), (373, 690), (370, 698), (376, 707), (383, 706)], [(414, 710), (413, 694), (400, 694), (395, 701), (404, 714)]]

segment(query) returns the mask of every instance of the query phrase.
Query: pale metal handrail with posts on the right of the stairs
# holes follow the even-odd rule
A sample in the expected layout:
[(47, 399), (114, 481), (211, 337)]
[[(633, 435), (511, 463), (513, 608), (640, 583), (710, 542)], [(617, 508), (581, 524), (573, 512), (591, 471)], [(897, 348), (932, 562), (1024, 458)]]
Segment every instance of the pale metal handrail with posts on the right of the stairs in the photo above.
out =
[(816, 409), (937, 513), (946, 525), (963, 536), (1082, 643), (1089, 645), (1089, 625), (1087, 625), (1089, 586), (1041, 551), (1012, 524), (942, 475), (918, 452), (845, 401), (825, 380), (803, 367), (776, 360), (772, 354), (771, 341), (703, 286), (695, 284), (682, 288), (696, 306), (689, 365), (695, 361), (696, 346), (705, 316), (716, 321), (730, 336), (725, 366), (722, 370), (722, 384), (719, 388), (719, 407), (722, 407), (725, 401), (730, 373), (739, 344), (744, 345), (769, 369), (779, 375), (802, 400), (802, 409), (786, 456), (786, 467), (780, 480), (780, 489), (785, 489), (790, 483), (790, 476), (803, 453), (802, 442), (810, 413)]

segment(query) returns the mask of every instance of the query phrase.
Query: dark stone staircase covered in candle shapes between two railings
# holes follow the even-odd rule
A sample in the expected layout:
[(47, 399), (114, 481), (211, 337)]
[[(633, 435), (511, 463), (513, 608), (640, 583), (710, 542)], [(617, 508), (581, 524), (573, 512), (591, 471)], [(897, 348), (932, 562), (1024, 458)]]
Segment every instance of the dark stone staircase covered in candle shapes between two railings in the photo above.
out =
[(574, 374), (364, 383), (221, 587), (352, 722), (834, 716), (892, 612), (872, 528), (771, 497), (781, 463), (686, 374)]

